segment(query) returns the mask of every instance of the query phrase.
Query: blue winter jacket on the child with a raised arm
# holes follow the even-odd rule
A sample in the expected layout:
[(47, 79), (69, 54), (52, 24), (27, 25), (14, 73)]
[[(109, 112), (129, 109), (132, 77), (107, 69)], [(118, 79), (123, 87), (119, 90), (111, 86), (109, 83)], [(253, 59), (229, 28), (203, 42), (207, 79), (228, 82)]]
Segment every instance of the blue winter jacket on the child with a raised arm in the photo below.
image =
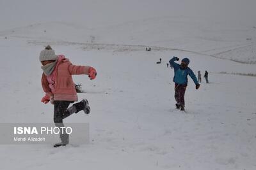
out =
[(173, 67), (174, 69), (174, 77), (173, 77), (173, 82), (179, 84), (179, 85), (188, 85), (188, 75), (192, 78), (194, 83), (198, 85), (197, 78), (193, 71), (189, 68), (186, 67), (186, 69), (181, 69), (180, 64), (175, 63), (175, 60), (177, 57), (173, 57), (169, 62), (170, 66)]

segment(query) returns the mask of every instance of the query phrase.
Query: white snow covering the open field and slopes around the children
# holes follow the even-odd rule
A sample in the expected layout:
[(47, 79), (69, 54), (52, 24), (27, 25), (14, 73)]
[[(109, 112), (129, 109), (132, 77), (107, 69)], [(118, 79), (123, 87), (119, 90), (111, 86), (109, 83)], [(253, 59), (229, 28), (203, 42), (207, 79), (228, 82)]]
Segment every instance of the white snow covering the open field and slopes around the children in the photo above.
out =
[[(166, 20), (160, 20), (159, 25), (168, 23)], [(74, 76), (86, 92), (79, 94), (79, 99), (86, 97), (90, 101), (92, 113), (79, 113), (65, 120), (88, 122), (90, 144), (61, 148), (0, 145), (1, 169), (256, 169), (255, 76), (220, 74), (256, 74), (255, 65), (234, 62), (230, 60), (232, 55), (224, 55), (228, 49), (238, 50), (251, 41), (246, 40), (249, 36), (242, 36), (243, 30), (238, 31), (241, 34), (205, 31), (210, 40), (201, 41), (188, 36), (189, 32), (174, 37), (193, 27), (182, 30), (177, 26), (170, 31), (176, 31), (170, 34), (173, 37), (165, 41), (166, 32), (152, 38), (149, 35), (155, 36), (156, 30), (145, 32), (140, 29), (143, 24), (137, 22), (130, 24), (137, 25), (138, 32), (129, 32), (126, 37), (120, 36), (124, 28), (132, 31), (127, 24), (109, 27), (108, 34), (100, 29), (90, 32), (83, 27), (54, 24), (53, 29), (47, 23), (44, 27), (35, 24), (0, 32), (0, 121), (52, 122), (53, 106), (40, 103), (44, 93), (38, 61), (43, 45), (50, 43), (56, 53), (66, 55), (74, 64), (97, 69), (93, 81)], [(144, 26), (149, 27), (147, 24)], [(58, 31), (60, 27), (62, 32)], [(165, 26), (164, 31), (168, 30)], [(253, 36), (246, 32), (250, 38)], [(152, 52), (145, 52), (148, 45), (154, 46)], [(210, 56), (216, 51), (218, 56)], [(189, 80), (187, 113), (175, 110), (173, 70), (166, 67), (173, 55), (189, 57), (195, 73), (209, 71), (210, 83), (203, 80), (199, 90)], [(255, 62), (252, 56), (239, 59)], [(156, 64), (160, 57), (163, 64)]]

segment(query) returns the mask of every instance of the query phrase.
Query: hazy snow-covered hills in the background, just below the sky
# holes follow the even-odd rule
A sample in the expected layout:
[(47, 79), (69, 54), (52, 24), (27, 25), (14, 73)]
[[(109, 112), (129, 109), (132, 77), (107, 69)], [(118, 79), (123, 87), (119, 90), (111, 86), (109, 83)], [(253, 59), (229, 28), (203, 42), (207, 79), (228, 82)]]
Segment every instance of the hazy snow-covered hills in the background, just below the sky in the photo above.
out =
[(46, 22), (0, 31), (3, 38), (33, 39), (41, 44), (156, 46), (248, 64), (256, 63), (255, 35), (255, 27), (212, 24), (207, 20), (184, 17), (147, 18), (97, 28), (67, 22)]

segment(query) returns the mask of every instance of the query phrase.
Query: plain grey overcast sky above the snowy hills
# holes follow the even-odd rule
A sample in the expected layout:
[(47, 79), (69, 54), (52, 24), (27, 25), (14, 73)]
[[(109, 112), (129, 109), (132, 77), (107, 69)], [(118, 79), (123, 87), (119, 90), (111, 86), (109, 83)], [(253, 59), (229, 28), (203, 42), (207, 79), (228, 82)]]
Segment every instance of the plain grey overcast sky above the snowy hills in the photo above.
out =
[(104, 25), (182, 16), (256, 25), (256, 0), (0, 0), (1, 28), (65, 21)]

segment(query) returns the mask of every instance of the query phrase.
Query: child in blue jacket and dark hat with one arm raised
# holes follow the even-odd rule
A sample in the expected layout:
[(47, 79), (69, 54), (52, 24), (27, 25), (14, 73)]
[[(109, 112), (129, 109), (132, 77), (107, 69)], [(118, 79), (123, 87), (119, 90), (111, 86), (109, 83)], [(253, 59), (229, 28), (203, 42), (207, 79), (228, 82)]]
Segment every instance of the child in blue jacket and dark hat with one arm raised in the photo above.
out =
[(174, 77), (173, 82), (175, 82), (175, 100), (176, 108), (180, 109), (181, 111), (185, 111), (185, 101), (184, 95), (188, 85), (188, 75), (192, 78), (196, 85), (196, 90), (199, 89), (200, 84), (198, 83), (195, 74), (193, 71), (188, 67), (189, 59), (184, 58), (181, 60), (180, 64), (175, 63), (176, 60), (179, 60), (178, 57), (173, 57), (169, 62), (170, 66), (174, 69)]

